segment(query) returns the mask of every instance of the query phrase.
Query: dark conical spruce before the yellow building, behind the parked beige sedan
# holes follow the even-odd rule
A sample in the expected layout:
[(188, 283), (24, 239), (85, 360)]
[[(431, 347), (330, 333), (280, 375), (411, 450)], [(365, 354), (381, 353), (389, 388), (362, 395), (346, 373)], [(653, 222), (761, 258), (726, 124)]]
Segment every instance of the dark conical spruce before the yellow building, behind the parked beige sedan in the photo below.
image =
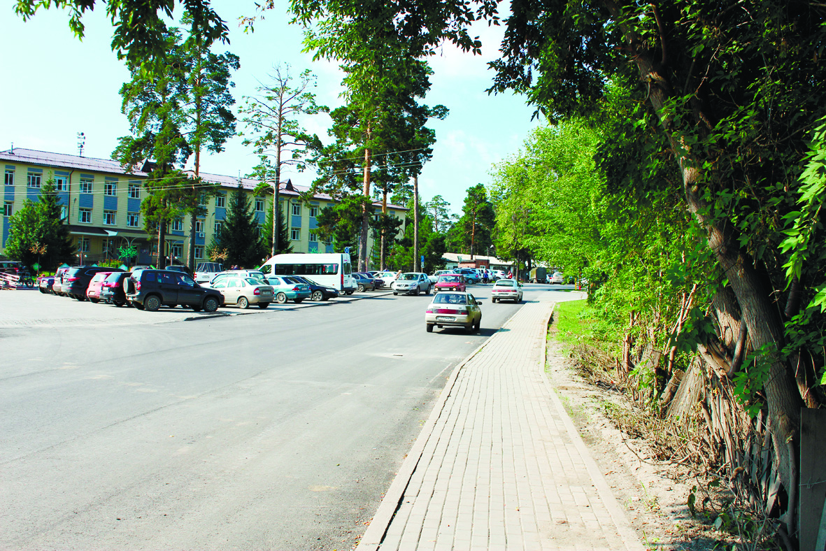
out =
[(255, 220), (252, 202), (240, 186), (232, 193), (221, 230), (212, 236), (209, 248), (213, 252), (226, 253), (224, 264), (237, 264), (243, 268), (257, 267), (267, 255), (261, 226)]

